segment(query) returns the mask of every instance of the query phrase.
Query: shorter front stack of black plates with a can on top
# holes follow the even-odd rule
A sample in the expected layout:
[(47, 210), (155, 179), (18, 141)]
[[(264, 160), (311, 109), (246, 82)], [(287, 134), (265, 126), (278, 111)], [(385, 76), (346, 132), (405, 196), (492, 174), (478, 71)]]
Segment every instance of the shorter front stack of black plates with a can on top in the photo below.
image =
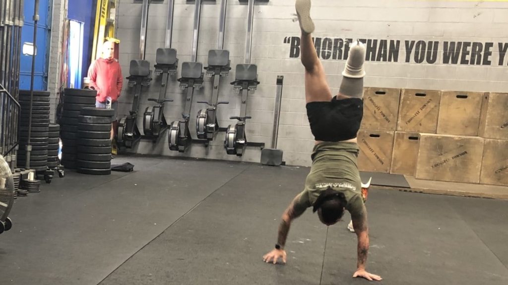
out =
[(114, 110), (83, 108), (78, 123), (77, 171), (111, 174), (111, 120)]

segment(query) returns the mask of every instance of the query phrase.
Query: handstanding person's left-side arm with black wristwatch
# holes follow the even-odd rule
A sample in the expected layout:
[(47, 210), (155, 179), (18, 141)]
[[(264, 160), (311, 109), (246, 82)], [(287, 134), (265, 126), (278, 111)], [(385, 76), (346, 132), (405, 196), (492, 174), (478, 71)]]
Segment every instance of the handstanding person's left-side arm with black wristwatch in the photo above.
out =
[(295, 199), (291, 202), (291, 204), (288, 206), (288, 208), (284, 211), (282, 214), (282, 219), (279, 224), (279, 230), (277, 235), (277, 245), (280, 246), (280, 248), (275, 248), (271, 252), (267, 253), (263, 256), (263, 261), (265, 262), (273, 262), (274, 264), (277, 263), (277, 260), (279, 258), (282, 259), (282, 262), (286, 262), (286, 253), (284, 251), (284, 246), (286, 239), (288, 238), (289, 228), (291, 226), (291, 222), (300, 217), (302, 213), (307, 209), (308, 204), (306, 201), (302, 201), (305, 199), (300, 199), (302, 195), (305, 194), (298, 194)]

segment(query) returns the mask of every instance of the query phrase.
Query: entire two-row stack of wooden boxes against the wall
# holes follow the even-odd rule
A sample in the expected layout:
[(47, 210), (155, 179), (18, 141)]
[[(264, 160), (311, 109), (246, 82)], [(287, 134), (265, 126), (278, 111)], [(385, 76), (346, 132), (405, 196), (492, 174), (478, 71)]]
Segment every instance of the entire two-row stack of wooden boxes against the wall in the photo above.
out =
[(361, 171), (508, 185), (508, 93), (364, 89)]

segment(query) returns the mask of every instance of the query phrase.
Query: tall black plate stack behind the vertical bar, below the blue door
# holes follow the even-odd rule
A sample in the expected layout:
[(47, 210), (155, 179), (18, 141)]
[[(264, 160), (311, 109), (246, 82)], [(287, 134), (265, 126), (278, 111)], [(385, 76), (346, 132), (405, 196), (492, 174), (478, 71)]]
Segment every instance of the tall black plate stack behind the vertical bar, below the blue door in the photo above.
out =
[[(30, 116), (30, 91), (19, 90), (21, 105), (19, 121), (18, 167), (26, 163), (26, 145), (28, 143), (28, 124)], [(32, 103), (30, 145), (30, 168), (36, 171), (48, 169), (48, 130), (49, 130), (49, 92), (34, 91)]]

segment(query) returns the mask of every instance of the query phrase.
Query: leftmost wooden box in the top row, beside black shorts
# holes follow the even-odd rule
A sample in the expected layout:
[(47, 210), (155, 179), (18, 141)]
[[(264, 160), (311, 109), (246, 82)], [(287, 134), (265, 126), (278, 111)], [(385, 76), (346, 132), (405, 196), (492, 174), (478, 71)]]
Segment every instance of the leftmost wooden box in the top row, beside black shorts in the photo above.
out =
[(364, 88), (361, 129), (395, 131), (399, 114), (399, 88)]

